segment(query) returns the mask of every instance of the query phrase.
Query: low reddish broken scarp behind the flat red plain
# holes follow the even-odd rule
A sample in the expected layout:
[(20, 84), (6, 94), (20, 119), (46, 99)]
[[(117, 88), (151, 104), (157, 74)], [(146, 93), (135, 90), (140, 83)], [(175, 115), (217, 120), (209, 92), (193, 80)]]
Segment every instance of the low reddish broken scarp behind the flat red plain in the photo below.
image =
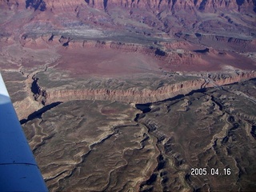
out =
[[(125, 42), (74, 40), (69, 37), (60, 37), (56, 35), (54, 38), (43, 36), (36, 40), (26, 38), (26, 40), (22, 40), (22, 43), (22, 46), (25, 47), (49, 45), (64, 46), (70, 50), (84, 49), (84, 51), (86, 51), (88, 48), (97, 48), (98, 51), (102, 49), (111, 49), (120, 50), (126, 53), (141, 53), (158, 58), (159, 61), (165, 62), (166, 65), (169, 65), (170, 63), (175, 63), (175, 65), (193, 65), (194, 63), (203, 62), (200, 54), (192, 50), (186, 50), (185, 46), (184, 50), (177, 51), (179, 50), (178, 48), (182, 48), (182, 43), (188, 45), (186, 42), (174, 42), (174, 46), (172, 46), (172, 43), (162, 43), (162, 49), (160, 49), (158, 46), (154, 45), (144, 46), (141, 44)], [(178, 44), (180, 45), (177, 46)]]

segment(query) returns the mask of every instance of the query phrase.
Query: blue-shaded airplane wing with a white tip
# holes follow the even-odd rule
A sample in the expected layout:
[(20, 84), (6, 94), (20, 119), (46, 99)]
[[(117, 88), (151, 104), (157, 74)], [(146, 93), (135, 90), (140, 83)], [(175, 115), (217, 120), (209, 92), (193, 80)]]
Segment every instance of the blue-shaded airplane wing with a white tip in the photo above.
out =
[(48, 191), (1, 74), (0, 191)]

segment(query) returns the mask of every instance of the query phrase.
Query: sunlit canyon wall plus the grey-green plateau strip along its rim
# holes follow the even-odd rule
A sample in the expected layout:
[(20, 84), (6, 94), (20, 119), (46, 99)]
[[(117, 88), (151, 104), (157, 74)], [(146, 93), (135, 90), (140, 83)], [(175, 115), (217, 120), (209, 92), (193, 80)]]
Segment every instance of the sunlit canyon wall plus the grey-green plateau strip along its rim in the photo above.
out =
[[(222, 85), (256, 78), (256, 71), (237, 71), (236, 73), (202, 73), (190, 75), (165, 74), (165, 77), (151, 78), (70, 78), (63, 82), (49, 79), (54, 72), (38, 74), (35, 84), (38, 87), (36, 98), (43, 103), (66, 102), (71, 100), (110, 100), (118, 102), (146, 103), (166, 100), (178, 94), (189, 94), (192, 90)], [(60, 74), (61, 75), (61, 74)], [(199, 76), (199, 77), (198, 77)], [(46, 77), (48, 79), (46, 79)], [(154, 80), (153, 83), (150, 81)]]

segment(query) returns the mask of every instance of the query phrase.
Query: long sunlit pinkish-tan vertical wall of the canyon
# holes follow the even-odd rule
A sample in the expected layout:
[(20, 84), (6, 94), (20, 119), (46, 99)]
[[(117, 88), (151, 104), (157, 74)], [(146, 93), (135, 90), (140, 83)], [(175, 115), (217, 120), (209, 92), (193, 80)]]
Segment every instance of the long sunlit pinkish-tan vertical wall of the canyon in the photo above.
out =
[(172, 98), (178, 94), (188, 94), (192, 90), (205, 87), (222, 86), (234, 82), (240, 82), (250, 78), (256, 78), (256, 72), (242, 72), (232, 75), (212, 74), (210, 81), (205, 78), (198, 78), (186, 82), (178, 82), (172, 85), (159, 87), (156, 90), (133, 87), (128, 90), (110, 89), (87, 89), (87, 90), (67, 90), (67, 89), (47, 89), (39, 86), (37, 99), (45, 104), (51, 102), (67, 102), (71, 100), (110, 100), (118, 102), (146, 103), (157, 102)]

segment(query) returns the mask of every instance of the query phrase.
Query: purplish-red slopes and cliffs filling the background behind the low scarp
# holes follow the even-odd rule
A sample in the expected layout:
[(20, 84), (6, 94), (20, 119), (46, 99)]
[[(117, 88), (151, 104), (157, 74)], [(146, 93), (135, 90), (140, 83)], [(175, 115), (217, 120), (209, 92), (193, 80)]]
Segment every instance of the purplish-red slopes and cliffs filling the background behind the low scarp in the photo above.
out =
[(255, 0), (1, 0), (0, 6), (10, 14), (0, 21), (2, 34), (21, 41), (42, 34), (70, 35), (59, 40), (68, 46), (72, 39), (102, 39), (118, 32), (244, 49), (255, 37)]

